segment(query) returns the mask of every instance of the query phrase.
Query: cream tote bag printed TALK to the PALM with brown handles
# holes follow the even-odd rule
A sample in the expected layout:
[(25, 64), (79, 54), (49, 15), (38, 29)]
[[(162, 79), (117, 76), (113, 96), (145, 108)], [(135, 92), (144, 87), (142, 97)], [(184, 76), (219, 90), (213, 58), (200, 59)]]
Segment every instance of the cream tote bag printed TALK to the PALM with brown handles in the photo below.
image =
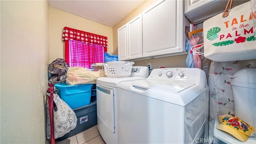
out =
[(204, 56), (216, 62), (256, 59), (256, 11), (250, 1), (231, 7), (229, 0), (224, 13), (204, 22)]

